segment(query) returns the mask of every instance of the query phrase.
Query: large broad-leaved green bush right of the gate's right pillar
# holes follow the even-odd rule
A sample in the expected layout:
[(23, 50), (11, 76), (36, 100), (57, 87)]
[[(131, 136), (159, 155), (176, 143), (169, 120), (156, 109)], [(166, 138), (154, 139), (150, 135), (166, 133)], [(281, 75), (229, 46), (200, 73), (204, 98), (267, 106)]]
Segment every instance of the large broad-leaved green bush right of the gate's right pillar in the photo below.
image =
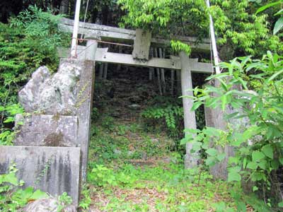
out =
[[(194, 105), (220, 107), (224, 111), (233, 108), (235, 112), (226, 114), (233, 126), (226, 131), (211, 127), (202, 131), (190, 129), (191, 134), (183, 143), (192, 142), (193, 151), (204, 149), (209, 166), (224, 159), (216, 146), (233, 146), (235, 156), (229, 158), (228, 169), (230, 182), (246, 179), (263, 184), (264, 191), (272, 187), (276, 190), (272, 173), (283, 165), (282, 58), (267, 52), (262, 59), (241, 57), (221, 63), (227, 72), (207, 78), (214, 80), (216, 86), (195, 89)], [(248, 124), (245, 126), (244, 122)]]

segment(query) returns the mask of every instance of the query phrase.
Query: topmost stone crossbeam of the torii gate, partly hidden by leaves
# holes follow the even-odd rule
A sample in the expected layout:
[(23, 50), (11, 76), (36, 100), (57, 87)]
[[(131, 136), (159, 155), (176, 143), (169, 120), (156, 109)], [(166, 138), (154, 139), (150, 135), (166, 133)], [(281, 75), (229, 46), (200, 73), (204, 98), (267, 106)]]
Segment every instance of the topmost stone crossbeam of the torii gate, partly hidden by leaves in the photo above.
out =
[[(71, 33), (73, 31), (74, 20), (68, 18), (62, 18), (60, 28), (65, 32)], [(99, 35), (101, 40), (104, 41), (121, 41), (127, 43), (134, 43), (136, 37), (135, 30), (127, 30), (122, 28), (114, 28), (106, 25), (98, 25), (94, 23), (79, 23), (79, 33), (92, 36)], [(172, 39), (180, 40), (187, 43), (192, 47), (192, 49), (200, 49), (202, 51), (210, 50), (210, 41), (207, 39), (202, 40), (202, 42), (197, 43), (196, 37), (182, 37), (175, 36)], [(152, 37), (151, 44), (155, 47), (163, 47), (170, 45), (170, 40), (163, 39), (162, 37)]]

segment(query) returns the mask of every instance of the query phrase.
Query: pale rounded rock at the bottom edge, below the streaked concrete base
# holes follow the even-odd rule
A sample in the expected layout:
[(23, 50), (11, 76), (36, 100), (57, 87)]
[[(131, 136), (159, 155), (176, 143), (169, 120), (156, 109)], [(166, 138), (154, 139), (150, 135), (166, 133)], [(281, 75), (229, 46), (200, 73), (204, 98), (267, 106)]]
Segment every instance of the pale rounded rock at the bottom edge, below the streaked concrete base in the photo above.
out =
[[(30, 202), (25, 206), (21, 212), (57, 212), (59, 201), (54, 198), (49, 199), (38, 199), (36, 201)], [(76, 212), (75, 206), (65, 206), (62, 212)]]

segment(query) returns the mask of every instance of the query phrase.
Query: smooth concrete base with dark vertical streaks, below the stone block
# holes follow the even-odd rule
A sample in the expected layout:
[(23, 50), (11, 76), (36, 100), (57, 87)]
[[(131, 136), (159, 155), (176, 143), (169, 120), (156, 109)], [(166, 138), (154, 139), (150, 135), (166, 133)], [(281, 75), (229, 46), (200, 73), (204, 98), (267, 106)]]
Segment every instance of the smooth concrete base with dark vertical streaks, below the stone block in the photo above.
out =
[(52, 196), (67, 192), (79, 204), (80, 148), (46, 146), (0, 146), (0, 175), (11, 163), (18, 169), (24, 187), (34, 187)]

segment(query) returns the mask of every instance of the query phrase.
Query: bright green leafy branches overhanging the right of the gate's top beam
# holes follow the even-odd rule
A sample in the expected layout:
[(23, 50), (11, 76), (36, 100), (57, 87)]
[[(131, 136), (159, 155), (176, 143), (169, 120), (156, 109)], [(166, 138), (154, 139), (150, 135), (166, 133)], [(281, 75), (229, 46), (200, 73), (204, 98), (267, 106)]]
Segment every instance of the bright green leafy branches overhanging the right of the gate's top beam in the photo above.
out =
[(173, 40), (176, 35), (196, 36), (200, 40), (209, 37), (210, 13), (219, 45), (229, 45), (241, 55), (283, 50), (279, 37), (270, 34), (268, 16), (255, 16), (258, 4), (248, 0), (214, 0), (210, 9), (202, 0), (119, 0), (118, 3), (127, 12), (122, 18), (125, 25), (152, 30)]

